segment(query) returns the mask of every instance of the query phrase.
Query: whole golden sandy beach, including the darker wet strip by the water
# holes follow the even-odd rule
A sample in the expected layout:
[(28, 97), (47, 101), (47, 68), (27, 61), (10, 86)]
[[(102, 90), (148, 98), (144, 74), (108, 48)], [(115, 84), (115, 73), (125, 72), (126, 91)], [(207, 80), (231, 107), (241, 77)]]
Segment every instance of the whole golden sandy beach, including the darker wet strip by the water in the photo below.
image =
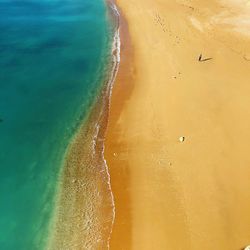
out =
[[(132, 45), (123, 32), (106, 138), (111, 249), (242, 249), (250, 243), (248, 1), (117, 4)], [(199, 62), (201, 53), (213, 59)]]

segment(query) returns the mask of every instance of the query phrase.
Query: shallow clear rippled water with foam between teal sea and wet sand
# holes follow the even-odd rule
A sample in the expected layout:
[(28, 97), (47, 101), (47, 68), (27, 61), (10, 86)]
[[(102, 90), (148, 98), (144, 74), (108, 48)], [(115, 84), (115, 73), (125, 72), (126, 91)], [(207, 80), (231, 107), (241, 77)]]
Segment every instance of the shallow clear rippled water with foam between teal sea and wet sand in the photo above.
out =
[[(109, 248), (115, 207), (110, 176), (104, 158), (104, 140), (112, 86), (120, 62), (119, 13), (107, 3), (115, 22), (110, 68), (89, 115), (69, 144), (48, 249), (86, 247)], [(112, 12), (112, 13), (111, 13)]]

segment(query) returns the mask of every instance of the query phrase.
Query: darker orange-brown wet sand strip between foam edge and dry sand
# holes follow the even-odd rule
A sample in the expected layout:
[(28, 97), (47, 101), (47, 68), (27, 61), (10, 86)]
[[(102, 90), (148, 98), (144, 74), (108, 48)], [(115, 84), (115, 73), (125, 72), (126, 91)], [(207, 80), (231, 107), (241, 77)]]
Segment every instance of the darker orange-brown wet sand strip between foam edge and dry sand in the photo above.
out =
[[(116, 5), (117, 5), (117, 1)], [(126, 101), (129, 99), (133, 91), (133, 77), (135, 74), (135, 70), (132, 67), (133, 62), (133, 48), (130, 39), (130, 34), (128, 30), (128, 24), (124, 17), (122, 10), (120, 9), (120, 36), (121, 36), (121, 62), (119, 66), (119, 71), (117, 73), (112, 96), (110, 101), (110, 112), (108, 119), (108, 126), (106, 130), (106, 138), (105, 138), (105, 159), (107, 161), (107, 165), (109, 168), (109, 173), (111, 175), (111, 187), (114, 194), (115, 199), (115, 209), (116, 213), (118, 213), (118, 217), (115, 217), (114, 225), (112, 229), (111, 239), (110, 239), (110, 249), (120, 249), (123, 247), (124, 249), (129, 249), (131, 239), (130, 239), (130, 230), (131, 230), (131, 215), (129, 214), (129, 193), (126, 188), (120, 193), (116, 193), (116, 189), (118, 186), (126, 187), (129, 183), (129, 177), (123, 170), (118, 170), (117, 168), (121, 168), (122, 164), (117, 164), (114, 162), (114, 157), (116, 157), (116, 153), (114, 152), (114, 148), (117, 145), (113, 145), (115, 141), (115, 137), (117, 136), (117, 131), (115, 129), (115, 125), (119, 120), (119, 115), (124, 106), (126, 105)], [(128, 73), (129, 72), (129, 73)], [(115, 104), (115, 108), (114, 108)], [(112, 133), (112, 131), (114, 133)], [(116, 166), (117, 168), (115, 168)], [(119, 187), (118, 187), (119, 189)], [(121, 190), (119, 190), (121, 191)], [(119, 196), (119, 199), (116, 197)], [(120, 225), (123, 225), (123, 229), (120, 231)], [(118, 228), (118, 230), (117, 230)]]

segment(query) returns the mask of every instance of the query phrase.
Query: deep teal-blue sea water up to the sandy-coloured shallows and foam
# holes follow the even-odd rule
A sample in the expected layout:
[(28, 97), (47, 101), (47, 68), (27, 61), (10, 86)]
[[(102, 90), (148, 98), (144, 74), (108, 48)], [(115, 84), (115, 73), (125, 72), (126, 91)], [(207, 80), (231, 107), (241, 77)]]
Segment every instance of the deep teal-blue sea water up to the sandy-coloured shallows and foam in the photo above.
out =
[(110, 33), (103, 0), (0, 0), (0, 249), (44, 249)]

